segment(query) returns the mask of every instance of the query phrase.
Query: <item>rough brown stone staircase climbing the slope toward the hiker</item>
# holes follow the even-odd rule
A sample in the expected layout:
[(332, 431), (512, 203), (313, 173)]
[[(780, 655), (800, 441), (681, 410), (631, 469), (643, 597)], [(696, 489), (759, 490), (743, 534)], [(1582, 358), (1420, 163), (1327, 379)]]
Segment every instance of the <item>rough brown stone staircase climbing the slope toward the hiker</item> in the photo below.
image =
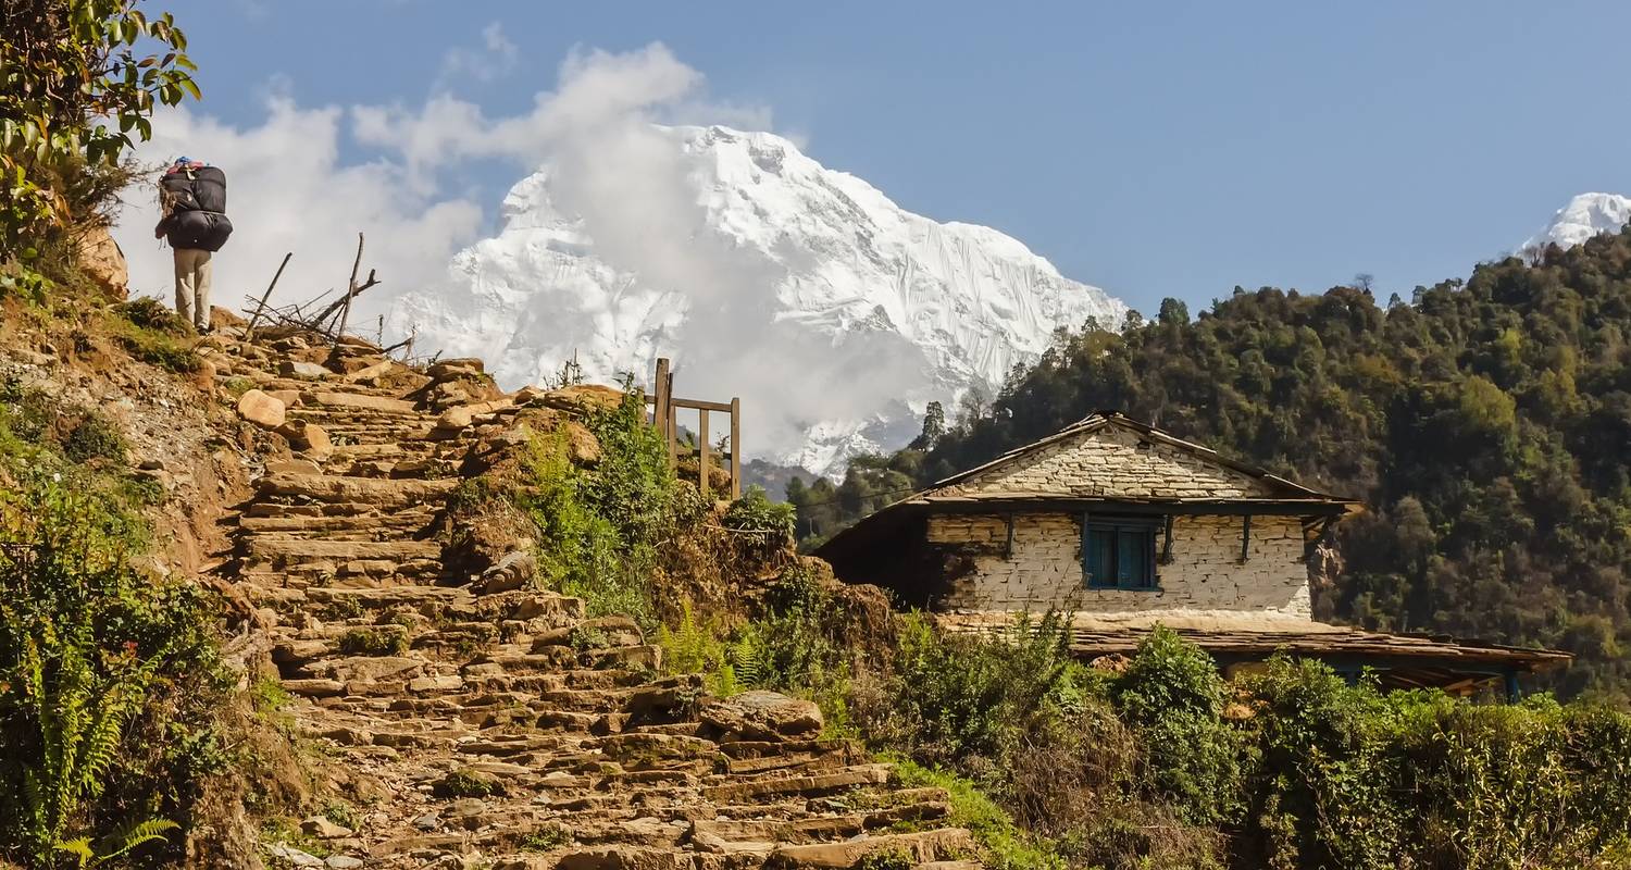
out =
[(822, 739), (814, 705), (709, 699), (661, 676), (633, 620), (450, 576), (435, 532), (458, 468), (527, 395), (460, 403), (444, 385), (475, 361), (217, 344), (217, 380), (256, 387), (240, 413), (297, 446), (233, 517), (223, 573), (272, 625), (294, 726), (356, 805), (352, 828), (315, 816), (266, 842), (274, 865), (977, 867), (944, 792)]

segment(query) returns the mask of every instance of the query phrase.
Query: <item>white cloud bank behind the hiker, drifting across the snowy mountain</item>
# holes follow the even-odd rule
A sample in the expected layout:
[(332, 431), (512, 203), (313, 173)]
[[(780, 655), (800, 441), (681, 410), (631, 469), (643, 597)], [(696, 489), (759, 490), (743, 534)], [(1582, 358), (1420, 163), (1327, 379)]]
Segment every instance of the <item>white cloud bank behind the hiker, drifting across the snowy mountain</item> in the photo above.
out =
[[(486, 39), (499, 46), (502, 62), (502, 29), (491, 26)], [(483, 75), (462, 55), (450, 57), (449, 69)], [(778, 266), (706, 230), (690, 163), (652, 129), (652, 122), (768, 129), (770, 113), (708, 100), (703, 77), (661, 44), (623, 54), (574, 51), (561, 64), (556, 90), (537, 93), (527, 111), (512, 116), (488, 116), (447, 91), (416, 106), (300, 106), (279, 82), (267, 85), (264, 108), (264, 121), (246, 126), (165, 109), (153, 124), (155, 140), (139, 153), (153, 163), (188, 153), (227, 170), (235, 233), (215, 258), (217, 305), (246, 308), (284, 251), (294, 260), (274, 304), (339, 289), (356, 233), (365, 232), (364, 269), (377, 268), (383, 281), (360, 305), (360, 323), (370, 325), (396, 299), (460, 286), (450, 263), (481, 237), (489, 204), (453, 189), (450, 170), (497, 162), (519, 178), (548, 165), (550, 196), (582, 220), (597, 258), (701, 312), (675, 335), (685, 346), (687, 382), (742, 395), (755, 408), (749, 446), (788, 449), (811, 415), (864, 418), (902, 395), (902, 361), (922, 364), (897, 336), (851, 340), (838, 353), (830, 338), (776, 320), (775, 299), (763, 291), (778, 281)], [(168, 300), (170, 251), (152, 238), (157, 198), (148, 188), (127, 199), (116, 237), (130, 261), (132, 287)], [(574, 313), (590, 317), (563, 305), (546, 323), (574, 328)], [(910, 371), (917, 375), (917, 367)], [(848, 388), (827, 388), (832, 384)]]

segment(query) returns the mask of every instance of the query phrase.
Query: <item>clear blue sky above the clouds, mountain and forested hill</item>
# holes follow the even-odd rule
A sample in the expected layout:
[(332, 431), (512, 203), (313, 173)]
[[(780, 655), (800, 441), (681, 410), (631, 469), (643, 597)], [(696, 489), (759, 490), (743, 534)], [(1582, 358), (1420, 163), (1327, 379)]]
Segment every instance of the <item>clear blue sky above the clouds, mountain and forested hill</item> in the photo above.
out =
[[(711, 101), (765, 108), (822, 163), (1145, 312), (1355, 273), (1408, 297), (1576, 193), (1631, 191), (1631, 3), (153, 5), (192, 41), (197, 111), (228, 124), (264, 122), (267, 93), (515, 114), (574, 47), (661, 41)], [(458, 183), (491, 209), (519, 176)]]

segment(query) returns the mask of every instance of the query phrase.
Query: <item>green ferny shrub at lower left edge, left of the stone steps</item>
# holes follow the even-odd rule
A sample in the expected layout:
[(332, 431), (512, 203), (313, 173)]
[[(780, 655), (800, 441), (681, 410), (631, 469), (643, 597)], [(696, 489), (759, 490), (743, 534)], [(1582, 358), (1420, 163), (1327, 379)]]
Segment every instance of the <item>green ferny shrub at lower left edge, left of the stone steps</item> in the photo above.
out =
[(175, 823), (155, 816), (184, 818), (227, 761), (214, 602), (129, 566), (140, 522), (95, 478), (24, 475), (0, 517), (0, 852), (160, 839)]

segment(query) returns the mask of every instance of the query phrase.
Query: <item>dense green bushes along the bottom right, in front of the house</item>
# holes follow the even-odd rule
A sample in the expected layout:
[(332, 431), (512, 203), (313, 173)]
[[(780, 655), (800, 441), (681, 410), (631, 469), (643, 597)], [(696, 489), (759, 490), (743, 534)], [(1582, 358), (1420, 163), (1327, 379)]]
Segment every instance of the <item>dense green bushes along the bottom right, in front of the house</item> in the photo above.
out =
[(1094, 676), (1059, 664), (1041, 635), (944, 638), (907, 620), (884, 692), (855, 699), (863, 735), (1024, 813), (1072, 862), (1623, 867), (1623, 712), (1383, 695), (1292, 659), (1228, 684), (1163, 628), (1124, 671)]

